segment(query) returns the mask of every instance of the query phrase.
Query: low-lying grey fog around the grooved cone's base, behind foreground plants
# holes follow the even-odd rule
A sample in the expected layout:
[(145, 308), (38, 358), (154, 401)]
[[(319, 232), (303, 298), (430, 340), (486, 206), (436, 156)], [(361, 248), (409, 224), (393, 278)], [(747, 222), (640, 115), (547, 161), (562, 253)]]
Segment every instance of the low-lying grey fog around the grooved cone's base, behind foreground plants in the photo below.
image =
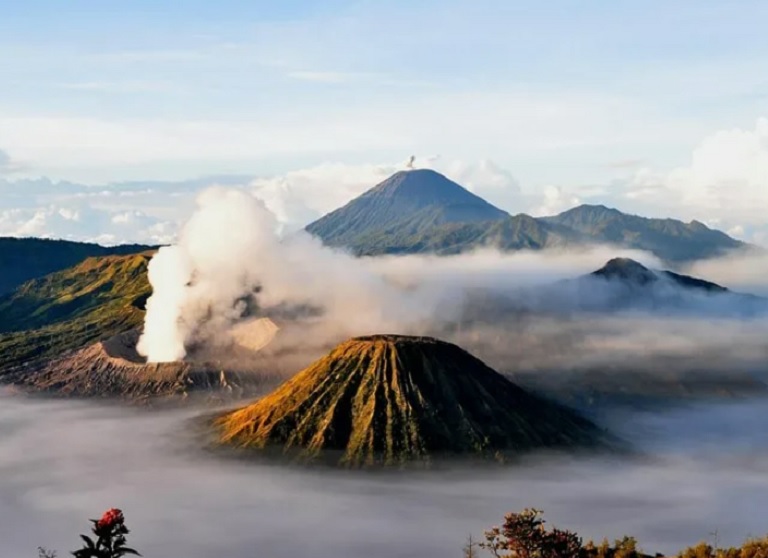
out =
[(178, 437), (194, 413), (3, 397), (2, 555), (65, 555), (112, 506), (150, 558), (460, 556), (466, 535), (526, 506), (651, 552), (768, 532), (766, 401), (607, 416), (653, 458), (418, 475), (222, 460)]

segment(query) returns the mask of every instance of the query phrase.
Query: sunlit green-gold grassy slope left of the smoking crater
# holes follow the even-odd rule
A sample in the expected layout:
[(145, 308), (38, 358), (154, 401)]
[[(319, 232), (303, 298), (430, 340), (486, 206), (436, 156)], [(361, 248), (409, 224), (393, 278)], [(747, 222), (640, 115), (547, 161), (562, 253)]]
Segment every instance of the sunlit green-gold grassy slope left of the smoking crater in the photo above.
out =
[(150, 257), (88, 258), (0, 297), (0, 370), (138, 327)]

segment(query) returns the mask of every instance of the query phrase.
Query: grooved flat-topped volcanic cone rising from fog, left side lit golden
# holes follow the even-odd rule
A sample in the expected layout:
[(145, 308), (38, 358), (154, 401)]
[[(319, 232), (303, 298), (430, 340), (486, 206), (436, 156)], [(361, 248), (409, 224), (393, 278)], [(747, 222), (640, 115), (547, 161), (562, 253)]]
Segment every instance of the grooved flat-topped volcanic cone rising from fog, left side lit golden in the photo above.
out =
[(605, 439), (574, 411), (517, 387), (456, 345), (395, 335), (342, 343), (214, 425), (224, 444), (303, 458), (323, 453), (348, 466), (502, 457)]

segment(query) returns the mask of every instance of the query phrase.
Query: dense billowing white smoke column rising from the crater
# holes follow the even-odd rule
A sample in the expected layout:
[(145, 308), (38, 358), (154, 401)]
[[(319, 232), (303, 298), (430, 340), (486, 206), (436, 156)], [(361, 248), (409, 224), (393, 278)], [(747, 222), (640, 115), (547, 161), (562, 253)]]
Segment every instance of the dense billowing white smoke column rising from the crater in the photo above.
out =
[(253, 196), (212, 188), (197, 206), (178, 244), (150, 262), (153, 294), (138, 350), (151, 362), (183, 358), (203, 323), (217, 328), (239, 317), (244, 308), (236, 300), (279, 252), (277, 222)]

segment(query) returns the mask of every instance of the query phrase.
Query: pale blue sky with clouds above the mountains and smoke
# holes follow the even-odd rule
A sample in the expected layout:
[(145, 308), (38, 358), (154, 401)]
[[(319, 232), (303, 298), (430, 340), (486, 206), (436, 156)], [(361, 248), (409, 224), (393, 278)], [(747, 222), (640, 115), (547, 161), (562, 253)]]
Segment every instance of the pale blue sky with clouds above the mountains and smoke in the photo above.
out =
[(765, 2), (6, 4), (0, 234), (166, 241), (211, 183), (297, 227), (415, 154), (768, 243)]

